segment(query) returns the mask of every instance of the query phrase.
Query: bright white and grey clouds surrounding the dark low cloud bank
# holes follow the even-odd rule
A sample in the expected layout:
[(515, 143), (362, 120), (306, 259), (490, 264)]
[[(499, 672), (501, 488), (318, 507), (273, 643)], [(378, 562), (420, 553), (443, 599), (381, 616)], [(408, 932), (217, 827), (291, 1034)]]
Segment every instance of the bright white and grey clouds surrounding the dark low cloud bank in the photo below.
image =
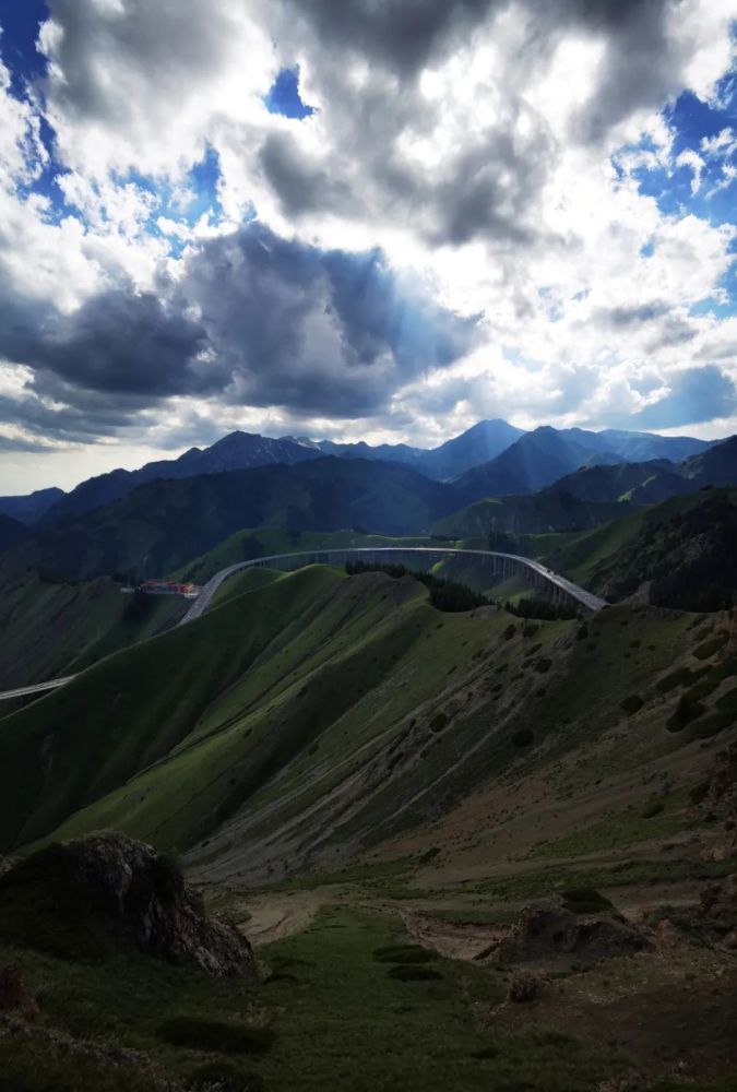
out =
[[(76, 215), (52, 215), (48, 199), (19, 188), (46, 152), (37, 115), (0, 67), (0, 292), (38, 321), (104, 292), (170, 297), (178, 286), (186, 297), (207, 240), (235, 239), (255, 210), (285, 239), (380, 247), (402, 278), (484, 316), (482, 349), (413, 376), (358, 425), (306, 405), (302, 430), (439, 439), (480, 416), (606, 424), (662, 401), (694, 363), (734, 367), (728, 322), (690, 313), (723, 292), (734, 228), (666, 215), (638, 178), (686, 166), (692, 194), (709, 197), (737, 177), (732, 130), (674, 155), (662, 112), (685, 88), (715, 102), (735, 0), (427, 0), (416, 25), (414, 5), (365, 0), (49, 7), (46, 116)], [(295, 64), (317, 109), (299, 122), (262, 102)], [(198, 207), (191, 222), (189, 171), (209, 149), (222, 215)], [(230, 277), (215, 312), (237, 297), (237, 269)], [(335, 352), (328, 319), (305, 330), (300, 390), (309, 368), (325, 385), (319, 349)], [(243, 391), (251, 380), (241, 377)], [(177, 412), (152, 410), (150, 435), (156, 423), (162, 440), (176, 431)], [(290, 416), (207, 400), (192, 412), (192, 431), (301, 419), (294, 406)]]

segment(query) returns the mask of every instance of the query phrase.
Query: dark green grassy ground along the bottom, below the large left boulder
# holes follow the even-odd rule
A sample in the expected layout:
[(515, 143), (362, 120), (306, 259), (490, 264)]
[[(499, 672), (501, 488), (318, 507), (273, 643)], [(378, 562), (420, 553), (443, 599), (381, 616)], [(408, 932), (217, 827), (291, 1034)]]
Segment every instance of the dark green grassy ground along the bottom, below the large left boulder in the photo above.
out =
[[(305, 933), (260, 950), (274, 977), (255, 992), (123, 950), (104, 963), (72, 962), (0, 942), (2, 962), (20, 962), (43, 997), (35, 1036), (0, 1034), (0, 1083), (13, 1092), (150, 1090), (140, 1061), (106, 1044), (143, 1052), (190, 1088), (269, 1092), (589, 1092), (626, 1069), (611, 1048), (593, 1052), (545, 1025), (521, 1033), (489, 1026), (486, 1014), (506, 988), (499, 972), (436, 958), (423, 964), (433, 978), (399, 981), (395, 964), (376, 953), (409, 940), (395, 917), (329, 909)], [(163, 1024), (182, 1018), (192, 1041), (171, 1046)], [(199, 1048), (205, 1019), (236, 1029), (265, 1024), (273, 1045), (260, 1054)], [(70, 1052), (64, 1035), (86, 1053)], [(251, 1083), (253, 1075), (263, 1084)], [(217, 1083), (226, 1079), (231, 1083)]]

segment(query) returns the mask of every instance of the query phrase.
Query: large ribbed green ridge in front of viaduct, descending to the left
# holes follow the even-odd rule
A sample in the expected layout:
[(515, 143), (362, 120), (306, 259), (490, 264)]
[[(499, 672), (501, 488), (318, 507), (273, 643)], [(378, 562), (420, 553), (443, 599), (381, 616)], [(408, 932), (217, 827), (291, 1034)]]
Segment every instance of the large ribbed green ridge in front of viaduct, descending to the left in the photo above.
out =
[[(238, 581), (242, 594), (205, 618), (3, 722), (5, 845), (59, 823), (64, 835), (117, 826), (193, 847), (203, 875), (281, 878), (325, 870), (576, 748), (585, 784), (570, 781), (572, 798), (601, 779), (597, 762), (607, 778), (637, 774), (692, 738), (665, 731), (678, 691), (653, 686), (703, 641), (692, 616), (610, 609), (578, 640), (576, 622), (440, 615), (412, 578), (314, 567)], [(633, 693), (641, 731), (605, 760), (598, 741), (630, 723), (621, 702)], [(521, 749), (523, 727), (534, 741)], [(606, 820), (603, 845), (635, 842), (637, 815), (617, 826), (618, 814), (594, 804), (583, 829)], [(682, 795), (664, 814), (669, 830), (691, 822)]]

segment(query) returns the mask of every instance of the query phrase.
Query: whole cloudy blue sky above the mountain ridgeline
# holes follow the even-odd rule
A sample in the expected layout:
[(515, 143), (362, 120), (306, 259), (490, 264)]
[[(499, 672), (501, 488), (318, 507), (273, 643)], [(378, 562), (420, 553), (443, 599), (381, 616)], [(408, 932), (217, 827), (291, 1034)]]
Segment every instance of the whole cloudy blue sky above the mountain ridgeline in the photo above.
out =
[(737, 432), (737, 0), (0, 0), (0, 494)]

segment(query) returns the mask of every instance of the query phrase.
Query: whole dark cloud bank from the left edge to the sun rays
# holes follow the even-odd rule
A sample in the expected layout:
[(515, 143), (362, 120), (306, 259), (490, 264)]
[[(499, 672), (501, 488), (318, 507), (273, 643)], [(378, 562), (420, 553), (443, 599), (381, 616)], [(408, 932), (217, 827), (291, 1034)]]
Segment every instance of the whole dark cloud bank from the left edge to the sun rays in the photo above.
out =
[(176, 395), (364, 415), (455, 360), (476, 330), (403, 290), (378, 252), (325, 252), (260, 225), (207, 241), (159, 288), (163, 299), (108, 292), (36, 322), (19, 311), (0, 354), (33, 380), (20, 400), (0, 400), (0, 420), (86, 440)]

